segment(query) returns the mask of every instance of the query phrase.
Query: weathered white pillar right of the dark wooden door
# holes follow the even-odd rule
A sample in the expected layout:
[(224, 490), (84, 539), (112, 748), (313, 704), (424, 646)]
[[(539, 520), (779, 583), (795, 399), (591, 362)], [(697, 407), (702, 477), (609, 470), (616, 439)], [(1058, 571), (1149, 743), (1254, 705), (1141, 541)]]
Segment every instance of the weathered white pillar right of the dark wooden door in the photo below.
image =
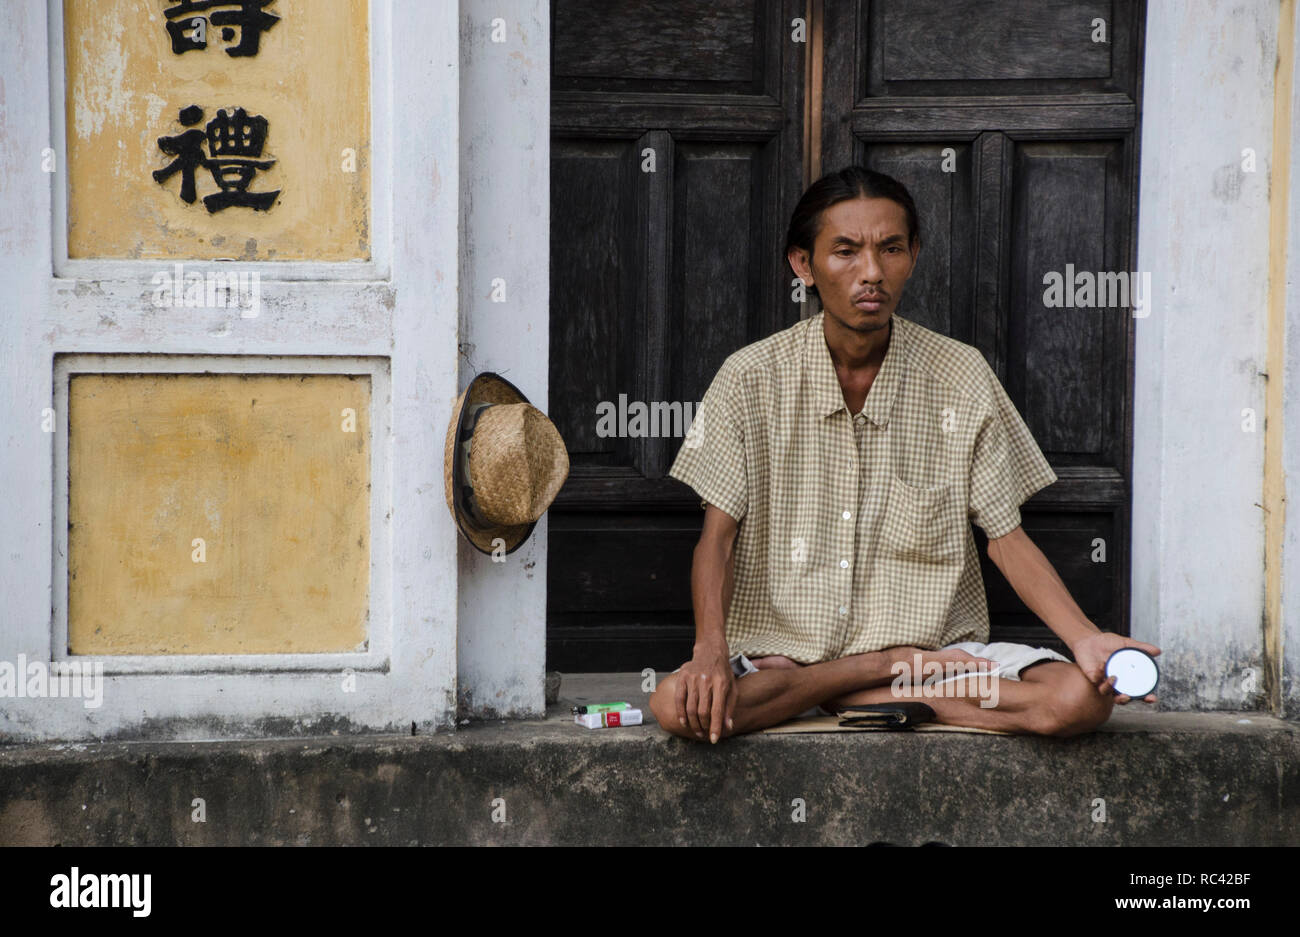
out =
[(1138, 265), (1154, 305), (1136, 320), (1132, 633), (1164, 651), (1162, 708), (1254, 708), (1262, 690), (1243, 681), (1262, 672), (1277, 34), (1277, 0), (1148, 9)]

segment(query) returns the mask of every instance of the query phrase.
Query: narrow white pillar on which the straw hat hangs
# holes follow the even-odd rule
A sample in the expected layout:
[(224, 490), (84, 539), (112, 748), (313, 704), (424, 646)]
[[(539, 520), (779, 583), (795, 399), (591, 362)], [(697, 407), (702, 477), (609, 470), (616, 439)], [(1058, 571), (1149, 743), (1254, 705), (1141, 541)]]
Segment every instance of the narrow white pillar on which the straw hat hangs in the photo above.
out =
[[(504, 42), (491, 42), (493, 21)], [(541, 411), (550, 355), (550, 4), (460, 4), (460, 376), (494, 370)], [(493, 302), (502, 278), (506, 302)], [(543, 712), (546, 529), (493, 563), (459, 539), (462, 716)]]

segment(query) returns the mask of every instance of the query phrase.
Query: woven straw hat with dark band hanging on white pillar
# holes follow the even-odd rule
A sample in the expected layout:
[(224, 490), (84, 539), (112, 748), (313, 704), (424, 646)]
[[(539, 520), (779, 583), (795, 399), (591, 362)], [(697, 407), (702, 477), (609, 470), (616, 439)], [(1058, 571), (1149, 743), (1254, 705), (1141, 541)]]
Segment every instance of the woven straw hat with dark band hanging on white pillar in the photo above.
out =
[(555, 424), (500, 374), (477, 374), (456, 398), (442, 454), (447, 508), (465, 539), (490, 554), (499, 537), (514, 552), (567, 477)]

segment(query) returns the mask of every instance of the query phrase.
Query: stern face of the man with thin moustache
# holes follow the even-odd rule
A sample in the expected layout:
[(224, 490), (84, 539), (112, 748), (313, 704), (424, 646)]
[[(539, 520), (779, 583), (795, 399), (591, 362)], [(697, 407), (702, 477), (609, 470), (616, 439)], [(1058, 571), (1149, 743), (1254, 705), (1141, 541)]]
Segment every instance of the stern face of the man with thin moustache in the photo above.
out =
[(826, 313), (854, 331), (889, 324), (920, 244), (909, 248), (907, 213), (893, 199), (849, 199), (822, 212), (822, 230), (806, 251), (789, 253), (790, 266), (816, 286)]

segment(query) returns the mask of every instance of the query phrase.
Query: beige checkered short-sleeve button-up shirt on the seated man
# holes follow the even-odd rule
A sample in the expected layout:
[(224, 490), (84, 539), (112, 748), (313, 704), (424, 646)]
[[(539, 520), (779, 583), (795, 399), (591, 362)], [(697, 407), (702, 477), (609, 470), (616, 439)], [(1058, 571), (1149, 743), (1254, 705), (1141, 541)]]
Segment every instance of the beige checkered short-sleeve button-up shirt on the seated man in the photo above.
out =
[(670, 470), (740, 521), (731, 652), (987, 642), (970, 521), (1010, 533), (1057, 476), (979, 350), (897, 313), (849, 413), (824, 314), (723, 361)]

